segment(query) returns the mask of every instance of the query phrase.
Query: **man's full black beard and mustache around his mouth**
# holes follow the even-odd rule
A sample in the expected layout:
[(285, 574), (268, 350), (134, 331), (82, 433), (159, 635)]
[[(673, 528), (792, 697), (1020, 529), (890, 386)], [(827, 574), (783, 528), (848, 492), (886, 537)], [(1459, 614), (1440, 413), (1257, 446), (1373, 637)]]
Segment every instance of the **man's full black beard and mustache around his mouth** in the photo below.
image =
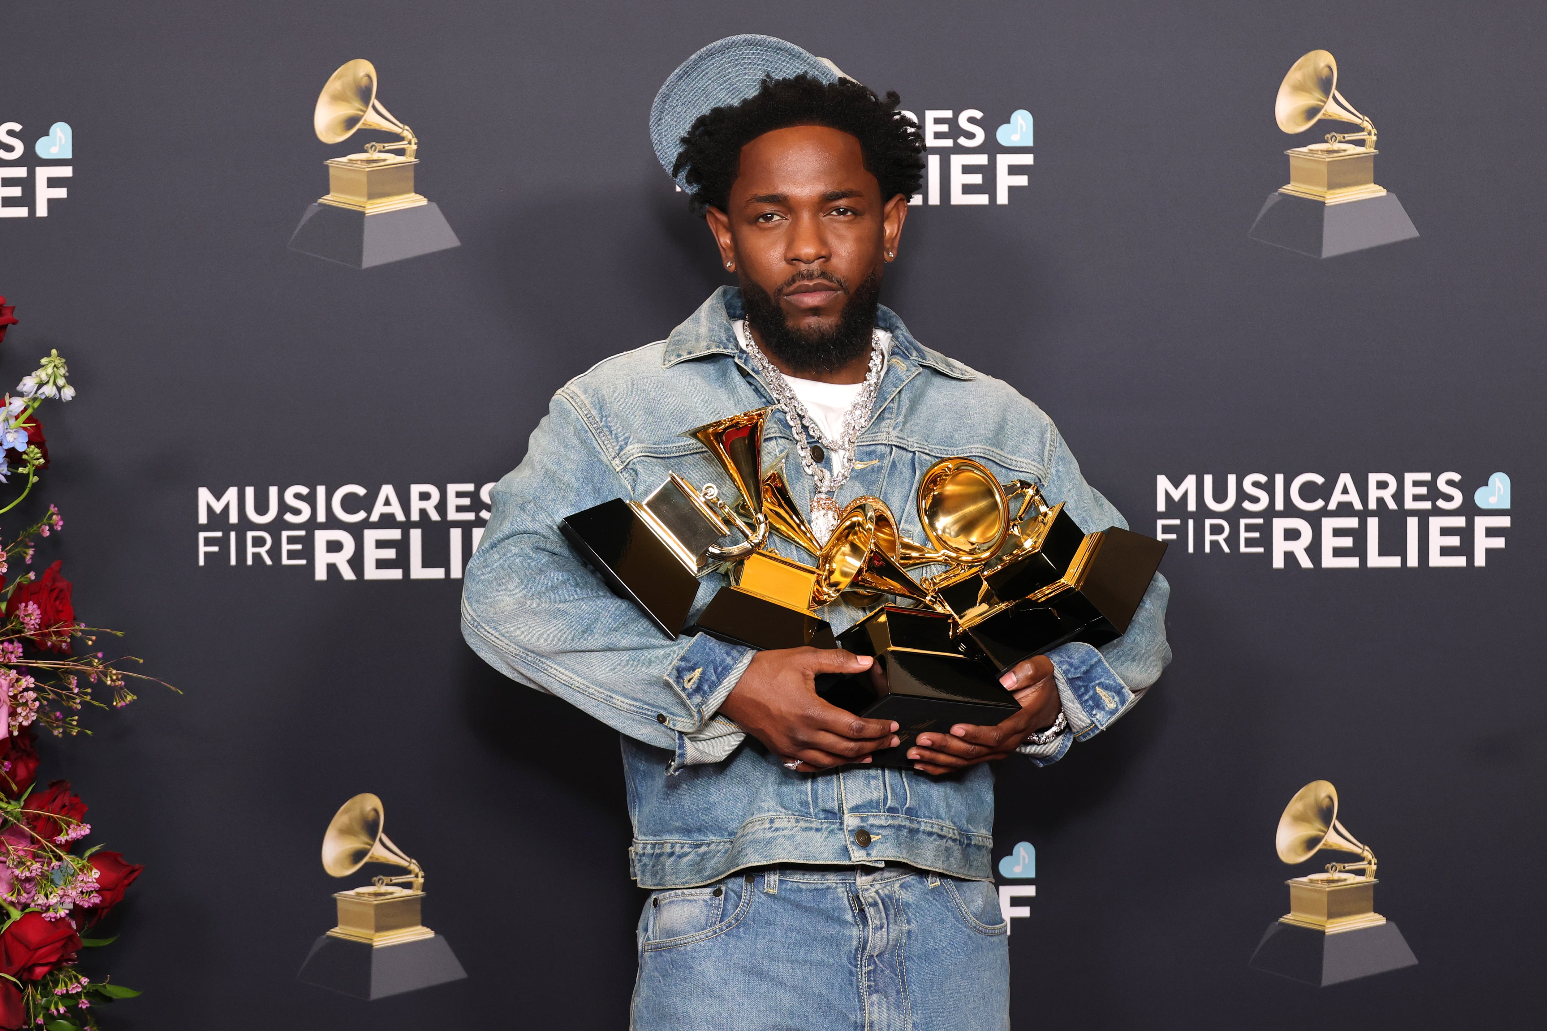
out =
[(747, 325), (756, 329), (763, 349), (792, 373), (837, 373), (869, 352), (876, 309), (880, 306), (880, 269), (866, 275), (852, 291), (842, 278), (815, 269), (797, 272), (780, 284), (783, 292), (795, 283), (820, 280), (846, 294), (838, 322), (831, 329), (795, 329), (772, 294), (746, 275), (739, 278)]

